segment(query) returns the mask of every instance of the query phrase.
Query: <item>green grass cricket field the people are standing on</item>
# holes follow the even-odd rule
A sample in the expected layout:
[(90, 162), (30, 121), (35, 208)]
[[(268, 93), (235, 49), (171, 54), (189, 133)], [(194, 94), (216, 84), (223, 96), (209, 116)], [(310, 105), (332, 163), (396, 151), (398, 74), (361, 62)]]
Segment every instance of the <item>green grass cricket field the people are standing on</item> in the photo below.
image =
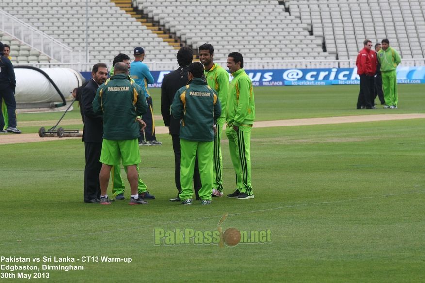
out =
[[(356, 110), (357, 90), (256, 88), (257, 120), (425, 112), (421, 85), (399, 86), (397, 110)], [(159, 90), (153, 92), (160, 115)], [(20, 122), (33, 125), (19, 128), (35, 133), (49, 126), (41, 123), (53, 126), (60, 116), (20, 114)], [(78, 118), (78, 109), (65, 116)], [(141, 147), (140, 164), (156, 200), (136, 207), (127, 201), (106, 207), (82, 202), (80, 139), (0, 145), (0, 256), (80, 260), (0, 265), (84, 267), (44, 271), (49, 279), (38, 279), (42, 282), (424, 280), (424, 119), (253, 129), (255, 199), (214, 198), (207, 207), (168, 201), (177, 191), (171, 138), (157, 138), (163, 145)], [(223, 138), (224, 186), (230, 193), (234, 173)], [(127, 184), (127, 199), (129, 193)], [(270, 229), (271, 243), (154, 245), (155, 228), (214, 231), (225, 213), (223, 231)], [(82, 262), (86, 256), (99, 262)], [(132, 262), (100, 262), (100, 256), (131, 257)], [(18, 271), (1, 274), (16, 279), (0, 282), (18, 280)]]

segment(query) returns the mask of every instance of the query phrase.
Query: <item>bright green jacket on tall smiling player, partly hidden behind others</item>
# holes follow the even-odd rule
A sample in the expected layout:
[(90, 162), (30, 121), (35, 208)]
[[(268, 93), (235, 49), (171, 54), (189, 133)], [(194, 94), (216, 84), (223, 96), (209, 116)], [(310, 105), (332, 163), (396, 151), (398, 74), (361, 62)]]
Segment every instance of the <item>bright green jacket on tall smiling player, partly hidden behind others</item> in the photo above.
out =
[(208, 85), (215, 90), (221, 104), (220, 118), (226, 115), (226, 100), (229, 92), (229, 73), (219, 64), (215, 63), (210, 70), (205, 71)]

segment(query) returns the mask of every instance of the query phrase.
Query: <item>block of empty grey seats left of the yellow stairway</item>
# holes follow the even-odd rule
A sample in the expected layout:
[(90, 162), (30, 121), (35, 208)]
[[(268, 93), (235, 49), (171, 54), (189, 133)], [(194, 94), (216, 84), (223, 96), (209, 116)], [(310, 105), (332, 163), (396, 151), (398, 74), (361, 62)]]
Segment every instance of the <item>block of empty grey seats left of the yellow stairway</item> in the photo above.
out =
[[(0, 0), (9, 14), (74, 50), (86, 47), (86, 6), (80, 0)], [(118, 53), (131, 55), (143, 46), (147, 58), (175, 60), (174, 48), (109, 0), (89, 1), (88, 49), (91, 62), (112, 62)], [(18, 58), (19, 61), (19, 58)]]

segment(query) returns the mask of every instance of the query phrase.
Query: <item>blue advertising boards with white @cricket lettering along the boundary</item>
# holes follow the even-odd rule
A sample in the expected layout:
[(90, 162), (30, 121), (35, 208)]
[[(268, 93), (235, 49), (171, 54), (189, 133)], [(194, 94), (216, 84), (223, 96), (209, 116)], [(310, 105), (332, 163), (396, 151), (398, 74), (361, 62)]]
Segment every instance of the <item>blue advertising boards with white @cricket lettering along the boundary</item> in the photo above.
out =
[[(284, 85), (345, 85), (359, 84), (356, 68), (327, 69), (269, 69), (245, 70), (254, 86)], [(161, 87), (163, 78), (170, 71), (151, 71), (155, 83), (149, 87)], [(90, 72), (81, 72), (90, 79)], [(230, 77), (231, 78), (231, 77)], [(400, 84), (425, 84), (425, 67), (398, 67), (397, 81)]]

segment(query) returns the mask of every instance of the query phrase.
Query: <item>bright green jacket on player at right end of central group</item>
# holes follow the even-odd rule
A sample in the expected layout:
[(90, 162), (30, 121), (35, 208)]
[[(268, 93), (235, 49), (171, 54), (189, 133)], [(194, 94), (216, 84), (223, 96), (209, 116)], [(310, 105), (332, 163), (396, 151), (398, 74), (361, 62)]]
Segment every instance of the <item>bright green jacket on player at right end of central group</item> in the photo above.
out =
[(232, 74), (226, 103), (228, 126), (252, 126), (255, 120), (254, 91), (252, 82), (244, 69)]

